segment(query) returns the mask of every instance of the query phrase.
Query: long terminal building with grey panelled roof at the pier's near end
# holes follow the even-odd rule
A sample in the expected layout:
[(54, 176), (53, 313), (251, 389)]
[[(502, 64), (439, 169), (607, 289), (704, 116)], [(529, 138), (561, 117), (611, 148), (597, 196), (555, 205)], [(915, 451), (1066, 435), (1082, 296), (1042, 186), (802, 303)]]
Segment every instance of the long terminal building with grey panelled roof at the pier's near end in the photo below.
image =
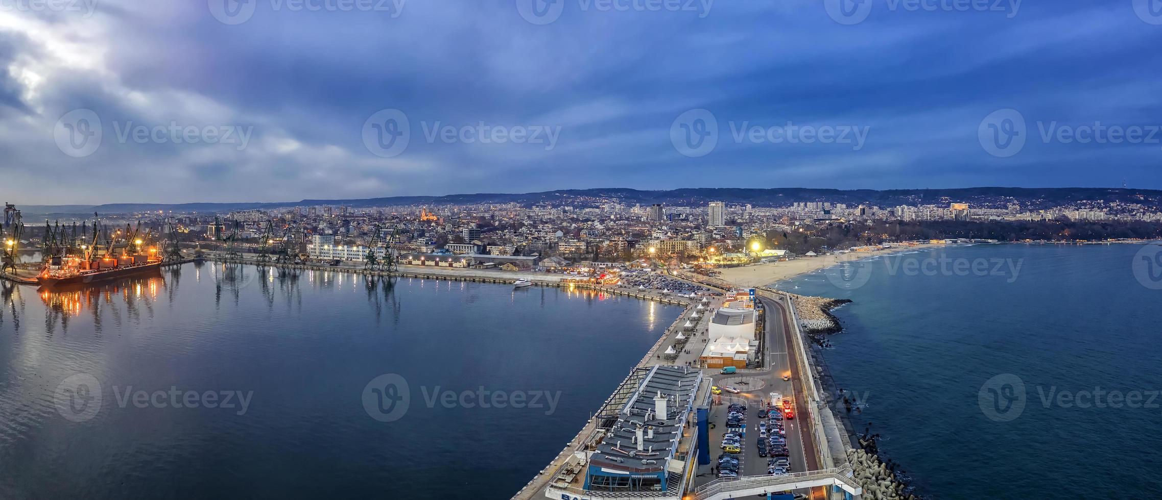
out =
[(634, 369), (582, 432), (545, 488), (551, 499), (681, 499), (710, 463), (709, 377), (690, 367)]

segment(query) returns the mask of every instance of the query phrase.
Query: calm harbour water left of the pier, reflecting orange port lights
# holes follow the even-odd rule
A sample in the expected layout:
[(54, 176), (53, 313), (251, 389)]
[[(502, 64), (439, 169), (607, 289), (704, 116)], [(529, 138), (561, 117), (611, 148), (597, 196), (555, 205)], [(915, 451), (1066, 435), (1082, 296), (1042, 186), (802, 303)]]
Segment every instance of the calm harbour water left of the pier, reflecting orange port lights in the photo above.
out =
[(209, 263), (0, 295), (3, 499), (509, 498), (680, 313)]

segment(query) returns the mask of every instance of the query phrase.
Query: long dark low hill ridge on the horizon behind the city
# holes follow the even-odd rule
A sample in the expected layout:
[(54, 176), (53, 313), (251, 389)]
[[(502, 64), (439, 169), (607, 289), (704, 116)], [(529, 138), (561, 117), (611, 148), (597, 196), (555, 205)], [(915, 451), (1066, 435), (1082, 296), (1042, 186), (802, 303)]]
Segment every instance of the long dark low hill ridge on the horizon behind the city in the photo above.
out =
[(1154, 189), (1121, 188), (959, 188), (959, 189), (809, 189), (809, 188), (683, 188), (672, 190), (639, 190), (627, 188), (561, 189), (541, 193), (503, 194), (480, 193), (446, 196), (389, 196), (361, 200), (302, 200), (297, 202), (241, 202), (241, 203), (112, 203), (103, 205), (24, 205), (26, 213), (131, 213), (145, 211), (227, 212), (248, 209), (274, 209), (307, 205), (347, 205), (352, 208), (519, 203), (532, 205), (550, 202), (574, 206), (591, 206), (600, 200), (617, 200), (627, 204), (703, 205), (709, 202), (754, 206), (787, 206), (798, 202), (831, 202), (848, 205), (868, 204), (896, 206), (902, 204), (970, 203), (975, 206), (1004, 208), (1020, 203), (1023, 208), (1060, 206), (1082, 201), (1105, 201), (1162, 205), (1162, 191)]

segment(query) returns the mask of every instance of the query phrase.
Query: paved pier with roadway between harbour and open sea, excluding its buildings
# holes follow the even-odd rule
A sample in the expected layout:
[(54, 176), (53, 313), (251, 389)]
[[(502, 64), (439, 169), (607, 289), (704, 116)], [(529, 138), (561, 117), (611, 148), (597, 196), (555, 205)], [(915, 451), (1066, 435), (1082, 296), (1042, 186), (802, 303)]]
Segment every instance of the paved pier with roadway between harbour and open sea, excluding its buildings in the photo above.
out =
[[(708, 287), (712, 290), (729, 291), (736, 289), (733, 284), (709, 278), (686, 271), (670, 271), (670, 275), (691, 283)], [(636, 492), (609, 492), (581, 488), (583, 476), (587, 473), (587, 457), (597, 450), (597, 443), (605, 430), (602, 429), (601, 421), (591, 418), (586, 426), (566, 444), (566, 447), (538, 472), (521, 491), (514, 500), (531, 500), (539, 498), (568, 499), (568, 500), (595, 500), (595, 499), (652, 499), (666, 498), (698, 499), (698, 500), (725, 500), (748, 495), (769, 494), (781, 491), (808, 492), (812, 499), (829, 498), (858, 498), (863, 494), (863, 490), (855, 479), (852, 464), (848, 464), (847, 450), (849, 443), (838, 428), (834, 415), (827, 408), (827, 398), (823, 392), (819, 382), (819, 374), (811, 363), (808, 355), (806, 342), (799, 326), (794, 300), (790, 296), (769, 288), (756, 289), (756, 302), (763, 306), (765, 319), (763, 331), (760, 333), (760, 356), (763, 360), (760, 369), (739, 369), (732, 375), (720, 375), (717, 369), (701, 369), (703, 376), (711, 383), (715, 379), (723, 381), (752, 381), (744, 390), (743, 394), (731, 397), (722, 394), (711, 401), (708, 413), (712, 419), (724, 411), (718, 410), (725, 400), (741, 400), (748, 404), (758, 404), (763, 398), (766, 391), (782, 391), (792, 398), (795, 413), (798, 419), (788, 421), (787, 442), (792, 449), (792, 473), (782, 476), (768, 476), (765, 461), (758, 456), (748, 456), (753, 450), (744, 449), (744, 454), (738, 455), (740, 461), (748, 459), (747, 463), (756, 465), (744, 465), (736, 478), (716, 478), (709, 474), (710, 466), (702, 463), (687, 464), (687, 483), (681, 487), (668, 491), (636, 491)], [(715, 297), (712, 307), (722, 306), (723, 298)], [(623, 405), (624, 394), (632, 391), (639, 382), (636, 378), (640, 370), (654, 365), (700, 365), (706, 331), (704, 323), (709, 319), (703, 316), (703, 321), (695, 321), (693, 334), (684, 326), (695, 304), (690, 304), (687, 310), (666, 329), (665, 334), (645, 354), (637, 368), (631, 371), (622, 384), (614, 391), (612, 396), (602, 405), (598, 414), (616, 410)], [(675, 346), (679, 334), (690, 334), (688, 342), (690, 349), (670, 349)], [(670, 353), (667, 357), (666, 353)], [(787, 374), (790, 381), (783, 381), (782, 375)], [(739, 383), (739, 382), (731, 382)], [(723, 382), (718, 382), (723, 384)], [(740, 386), (741, 387), (741, 386)], [(751, 392), (751, 393), (745, 393)], [(700, 419), (703, 416), (700, 415)], [(719, 416), (720, 418), (720, 416)], [(791, 423), (794, 422), (794, 423)], [(697, 435), (702, 432), (700, 426), (688, 428), (688, 434)], [(718, 439), (725, 429), (710, 429), (708, 439), (702, 439), (700, 445), (712, 443), (712, 439)], [(708, 450), (715, 455), (717, 449)], [(693, 456), (693, 455), (691, 455)], [(709, 478), (708, 478), (709, 476)]]

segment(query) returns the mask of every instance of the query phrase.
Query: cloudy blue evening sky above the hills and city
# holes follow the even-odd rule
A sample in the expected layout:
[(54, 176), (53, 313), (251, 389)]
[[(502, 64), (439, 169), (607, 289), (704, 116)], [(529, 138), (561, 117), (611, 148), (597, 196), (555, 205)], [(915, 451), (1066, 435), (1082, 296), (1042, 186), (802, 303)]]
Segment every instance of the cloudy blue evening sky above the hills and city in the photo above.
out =
[(1162, 0), (2, 0), (0, 197), (1162, 189)]

